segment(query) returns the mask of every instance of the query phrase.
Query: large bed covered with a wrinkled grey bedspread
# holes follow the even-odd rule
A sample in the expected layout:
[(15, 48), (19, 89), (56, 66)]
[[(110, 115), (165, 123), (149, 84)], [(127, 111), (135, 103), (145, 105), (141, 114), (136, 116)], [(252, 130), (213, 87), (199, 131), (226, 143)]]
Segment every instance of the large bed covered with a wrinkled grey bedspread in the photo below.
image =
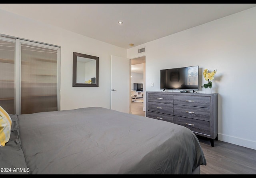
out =
[(170, 122), (102, 107), (10, 117), (0, 174), (200, 174), (206, 165), (196, 135)]

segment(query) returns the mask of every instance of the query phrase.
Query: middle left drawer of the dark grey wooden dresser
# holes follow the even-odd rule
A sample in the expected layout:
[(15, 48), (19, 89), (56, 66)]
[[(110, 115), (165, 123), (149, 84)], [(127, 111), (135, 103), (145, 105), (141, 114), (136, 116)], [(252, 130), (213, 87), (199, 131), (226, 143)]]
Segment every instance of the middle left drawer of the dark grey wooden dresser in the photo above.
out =
[(148, 102), (148, 110), (154, 112), (161, 112), (164, 114), (173, 114), (173, 104)]

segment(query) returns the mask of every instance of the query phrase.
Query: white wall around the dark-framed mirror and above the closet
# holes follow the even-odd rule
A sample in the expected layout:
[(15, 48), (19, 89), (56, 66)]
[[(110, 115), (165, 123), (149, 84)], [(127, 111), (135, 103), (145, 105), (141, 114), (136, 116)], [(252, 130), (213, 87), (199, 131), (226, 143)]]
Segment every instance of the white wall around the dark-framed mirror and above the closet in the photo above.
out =
[[(110, 108), (110, 57), (126, 57), (123, 48), (0, 10), (0, 34), (61, 48), (60, 109)], [(73, 52), (99, 57), (99, 87), (72, 87)]]

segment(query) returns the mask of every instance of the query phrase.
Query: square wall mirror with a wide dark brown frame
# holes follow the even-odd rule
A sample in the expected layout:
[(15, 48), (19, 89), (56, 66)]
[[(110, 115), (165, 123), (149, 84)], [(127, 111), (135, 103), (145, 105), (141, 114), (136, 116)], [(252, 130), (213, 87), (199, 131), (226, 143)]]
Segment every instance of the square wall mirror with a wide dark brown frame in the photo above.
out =
[(73, 86), (98, 87), (99, 57), (73, 52)]

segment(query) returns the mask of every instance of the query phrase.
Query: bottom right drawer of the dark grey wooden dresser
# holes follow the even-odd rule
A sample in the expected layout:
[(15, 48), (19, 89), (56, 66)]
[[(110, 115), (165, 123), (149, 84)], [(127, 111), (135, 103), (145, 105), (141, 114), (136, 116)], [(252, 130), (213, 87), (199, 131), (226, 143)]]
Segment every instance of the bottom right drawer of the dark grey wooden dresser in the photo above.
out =
[(208, 121), (174, 116), (173, 123), (185, 126), (193, 132), (210, 135), (210, 122)]

